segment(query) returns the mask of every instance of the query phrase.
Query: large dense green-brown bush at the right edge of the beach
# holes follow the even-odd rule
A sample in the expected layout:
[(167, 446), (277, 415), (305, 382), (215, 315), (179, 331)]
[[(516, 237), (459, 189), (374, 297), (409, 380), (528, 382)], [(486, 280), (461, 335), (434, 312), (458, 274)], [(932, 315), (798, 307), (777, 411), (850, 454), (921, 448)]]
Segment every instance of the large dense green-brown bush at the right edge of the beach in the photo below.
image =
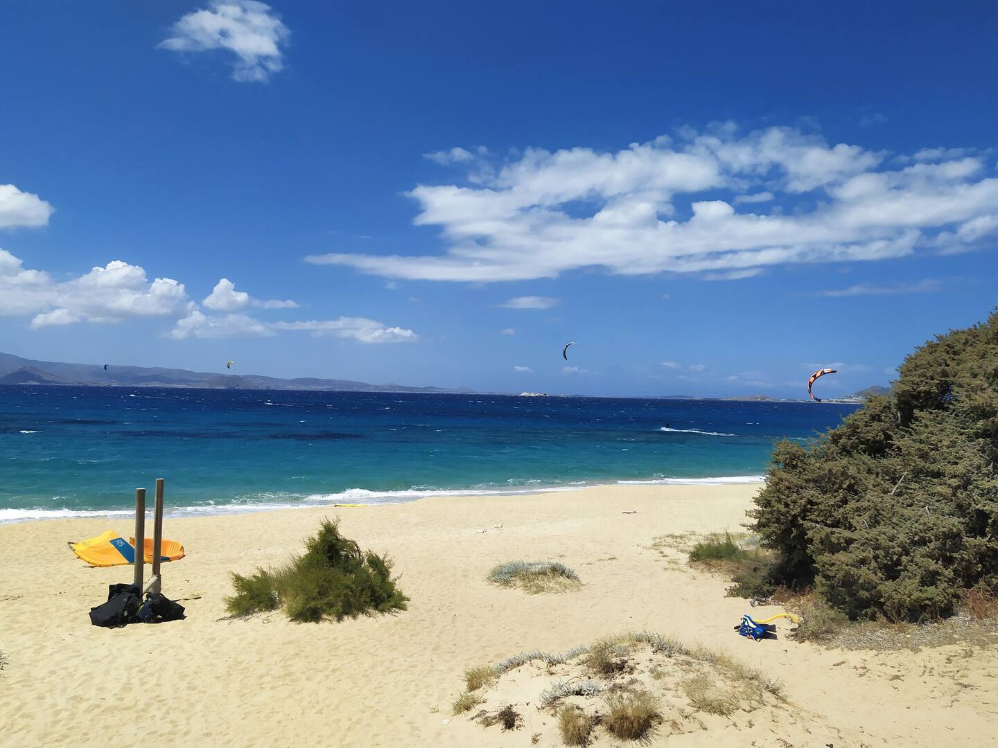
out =
[(938, 618), (998, 584), (998, 312), (899, 373), (812, 448), (777, 445), (750, 513), (775, 578), (853, 619)]

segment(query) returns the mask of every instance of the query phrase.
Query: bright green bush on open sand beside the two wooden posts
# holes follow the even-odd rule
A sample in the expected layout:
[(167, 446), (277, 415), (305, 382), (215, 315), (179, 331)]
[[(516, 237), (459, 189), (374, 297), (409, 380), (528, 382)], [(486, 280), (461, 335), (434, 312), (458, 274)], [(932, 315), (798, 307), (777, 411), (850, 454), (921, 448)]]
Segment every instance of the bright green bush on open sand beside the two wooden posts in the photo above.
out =
[(361, 551), (329, 520), (305, 542), (304, 556), (275, 570), (257, 568), (249, 577), (234, 573), (233, 585), (236, 594), (226, 599), (231, 613), (247, 615), (279, 605), (296, 621), (404, 610), (408, 599), (395, 585), (390, 561)]

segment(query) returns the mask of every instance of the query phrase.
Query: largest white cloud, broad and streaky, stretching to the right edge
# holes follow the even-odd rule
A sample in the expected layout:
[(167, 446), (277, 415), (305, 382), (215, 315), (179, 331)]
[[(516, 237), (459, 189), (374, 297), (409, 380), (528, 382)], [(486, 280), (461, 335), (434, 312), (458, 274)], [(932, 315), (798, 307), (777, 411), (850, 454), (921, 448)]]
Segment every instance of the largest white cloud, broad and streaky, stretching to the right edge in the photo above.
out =
[[(898, 167), (792, 128), (734, 126), (616, 153), (527, 149), (491, 172), (475, 167), (464, 183), (409, 191), (415, 223), (439, 228), (441, 254), (306, 259), (392, 278), (486, 282), (593, 267), (702, 275), (875, 261), (946, 251), (946, 242), (972, 248), (980, 238), (968, 244), (960, 231), (972, 236), (973, 221), (998, 220), (998, 179), (980, 159), (941, 156)], [(772, 199), (762, 201), (766, 193)]]

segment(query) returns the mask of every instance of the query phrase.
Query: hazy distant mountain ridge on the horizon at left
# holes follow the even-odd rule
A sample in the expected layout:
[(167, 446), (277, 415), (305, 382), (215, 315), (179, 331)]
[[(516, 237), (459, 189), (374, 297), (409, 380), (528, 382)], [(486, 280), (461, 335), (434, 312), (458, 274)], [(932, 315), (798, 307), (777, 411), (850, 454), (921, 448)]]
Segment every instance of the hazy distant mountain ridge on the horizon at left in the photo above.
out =
[(338, 392), (473, 392), (466, 387), (406, 387), (400, 384), (367, 384), (349, 379), (278, 379), (257, 374), (230, 375), (218, 372), (166, 369), (159, 366), (67, 364), (33, 361), (0, 353), (0, 385), (76, 384), (103, 387), (199, 387), (246, 390), (326, 390)]

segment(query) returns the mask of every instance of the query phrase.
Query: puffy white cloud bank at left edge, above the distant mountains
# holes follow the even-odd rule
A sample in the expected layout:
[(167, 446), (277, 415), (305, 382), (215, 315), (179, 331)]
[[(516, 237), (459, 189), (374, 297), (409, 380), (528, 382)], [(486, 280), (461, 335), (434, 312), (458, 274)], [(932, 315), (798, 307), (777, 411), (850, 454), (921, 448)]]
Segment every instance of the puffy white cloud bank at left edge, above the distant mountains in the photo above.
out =
[(0, 249), (0, 315), (34, 314), (36, 328), (170, 316), (190, 303), (183, 283), (173, 278), (150, 282), (142, 267), (122, 260), (56, 281), (44, 271), (25, 269), (20, 258)]

